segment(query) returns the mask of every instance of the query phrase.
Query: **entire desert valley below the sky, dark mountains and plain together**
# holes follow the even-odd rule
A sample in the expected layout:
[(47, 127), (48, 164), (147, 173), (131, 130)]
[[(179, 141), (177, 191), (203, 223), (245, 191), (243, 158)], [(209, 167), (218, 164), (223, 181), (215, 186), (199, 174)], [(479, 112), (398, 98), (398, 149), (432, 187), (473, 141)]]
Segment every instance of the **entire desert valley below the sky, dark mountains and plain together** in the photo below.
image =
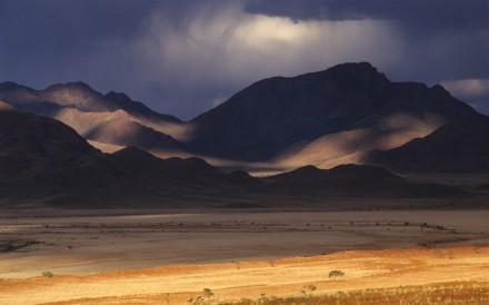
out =
[(488, 135), (441, 86), (368, 62), (259, 80), (189, 121), (2, 82), (0, 299), (483, 303)]

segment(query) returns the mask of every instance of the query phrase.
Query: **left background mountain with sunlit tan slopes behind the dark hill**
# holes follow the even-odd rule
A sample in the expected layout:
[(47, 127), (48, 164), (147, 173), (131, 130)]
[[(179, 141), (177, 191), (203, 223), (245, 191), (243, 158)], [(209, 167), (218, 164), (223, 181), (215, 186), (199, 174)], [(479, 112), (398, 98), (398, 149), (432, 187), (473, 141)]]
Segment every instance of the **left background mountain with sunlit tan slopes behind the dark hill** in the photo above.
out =
[(100, 147), (106, 144), (182, 151), (168, 135), (181, 129), (178, 118), (158, 114), (121, 92), (103, 96), (83, 82), (53, 85), (44, 90), (2, 82), (0, 100), (23, 111), (56, 118)]

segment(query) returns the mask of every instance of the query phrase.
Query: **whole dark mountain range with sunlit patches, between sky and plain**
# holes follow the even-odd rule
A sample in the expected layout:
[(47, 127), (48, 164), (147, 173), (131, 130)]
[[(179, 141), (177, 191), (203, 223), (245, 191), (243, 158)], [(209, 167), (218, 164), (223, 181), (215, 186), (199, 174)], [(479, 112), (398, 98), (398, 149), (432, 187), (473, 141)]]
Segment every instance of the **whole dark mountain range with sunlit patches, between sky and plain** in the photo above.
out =
[(489, 170), (487, 116), (367, 62), (263, 79), (189, 121), (82, 82), (2, 82), (0, 100), (2, 206), (443, 198), (468, 194), (390, 171)]

